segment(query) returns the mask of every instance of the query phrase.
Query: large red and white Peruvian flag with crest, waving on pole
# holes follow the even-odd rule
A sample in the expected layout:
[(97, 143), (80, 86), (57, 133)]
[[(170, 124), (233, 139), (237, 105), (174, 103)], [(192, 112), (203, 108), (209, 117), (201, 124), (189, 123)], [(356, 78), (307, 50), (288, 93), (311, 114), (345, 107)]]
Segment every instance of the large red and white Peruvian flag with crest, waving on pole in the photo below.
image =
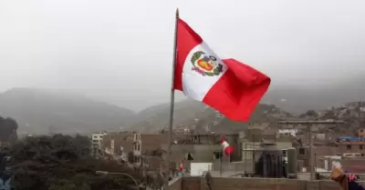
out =
[(270, 78), (235, 59), (220, 59), (183, 20), (177, 21), (174, 89), (235, 121), (247, 121)]

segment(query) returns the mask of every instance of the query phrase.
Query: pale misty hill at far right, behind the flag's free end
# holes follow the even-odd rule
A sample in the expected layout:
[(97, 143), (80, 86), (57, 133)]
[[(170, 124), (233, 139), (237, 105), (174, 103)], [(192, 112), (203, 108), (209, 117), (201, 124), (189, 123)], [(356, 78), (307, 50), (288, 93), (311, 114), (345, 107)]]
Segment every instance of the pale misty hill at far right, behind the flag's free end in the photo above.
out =
[[(365, 76), (352, 77), (341, 83), (318, 86), (272, 86), (263, 98), (264, 103), (277, 105), (300, 115), (308, 110), (327, 109), (347, 102), (365, 100)], [(282, 101), (286, 99), (286, 101)]]

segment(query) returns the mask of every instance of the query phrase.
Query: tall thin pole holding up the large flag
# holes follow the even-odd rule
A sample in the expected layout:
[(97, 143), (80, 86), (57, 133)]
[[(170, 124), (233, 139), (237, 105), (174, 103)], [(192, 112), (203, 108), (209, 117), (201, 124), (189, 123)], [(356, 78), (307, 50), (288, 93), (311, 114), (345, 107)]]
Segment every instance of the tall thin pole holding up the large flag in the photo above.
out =
[(171, 86), (171, 96), (170, 96), (170, 116), (169, 116), (169, 137), (168, 137), (168, 150), (166, 156), (166, 166), (167, 173), (165, 175), (165, 185), (164, 190), (169, 189), (169, 176), (170, 176), (170, 160), (172, 155), (172, 125), (173, 125), (173, 108), (175, 101), (175, 90), (174, 90), (174, 81), (175, 81), (175, 65), (176, 65), (176, 53), (177, 53), (177, 23), (179, 19), (179, 8), (176, 8), (175, 14), (175, 32), (173, 36), (173, 56), (172, 56), (172, 86)]

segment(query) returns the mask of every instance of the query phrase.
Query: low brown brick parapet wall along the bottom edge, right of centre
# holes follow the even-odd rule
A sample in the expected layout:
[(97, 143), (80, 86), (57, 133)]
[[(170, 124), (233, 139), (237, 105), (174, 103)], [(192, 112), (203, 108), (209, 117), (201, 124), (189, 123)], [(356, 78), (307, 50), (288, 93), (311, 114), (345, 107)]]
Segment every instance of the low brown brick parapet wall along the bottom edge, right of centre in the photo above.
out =
[[(175, 182), (172, 190), (209, 190), (205, 178), (184, 176)], [(361, 183), (365, 185), (365, 183)], [(179, 189), (181, 187), (181, 189)], [(330, 180), (306, 181), (298, 179), (270, 179), (270, 178), (227, 178), (214, 177), (214, 190), (341, 190), (339, 185)]]

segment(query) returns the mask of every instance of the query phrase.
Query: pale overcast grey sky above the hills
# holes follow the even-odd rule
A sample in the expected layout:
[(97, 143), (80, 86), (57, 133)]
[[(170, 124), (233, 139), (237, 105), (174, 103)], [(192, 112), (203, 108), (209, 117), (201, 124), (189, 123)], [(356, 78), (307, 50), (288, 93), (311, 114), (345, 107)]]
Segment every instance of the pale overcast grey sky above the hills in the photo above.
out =
[(0, 0), (0, 90), (68, 89), (133, 110), (167, 102), (176, 7), (218, 55), (273, 85), (365, 71), (363, 0)]

